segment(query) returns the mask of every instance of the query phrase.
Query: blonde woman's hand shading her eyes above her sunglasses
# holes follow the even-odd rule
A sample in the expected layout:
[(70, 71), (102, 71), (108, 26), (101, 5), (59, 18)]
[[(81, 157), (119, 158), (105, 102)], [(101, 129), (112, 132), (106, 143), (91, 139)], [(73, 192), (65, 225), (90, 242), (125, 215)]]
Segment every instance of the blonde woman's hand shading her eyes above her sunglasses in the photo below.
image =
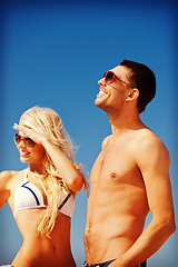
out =
[(32, 128), (14, 123), (13, 129), (21, 131), (24, 136), (32, 139), (36, 144), (42, 145), (47, 140), (47, 137), (44, 135), (38, 132)]

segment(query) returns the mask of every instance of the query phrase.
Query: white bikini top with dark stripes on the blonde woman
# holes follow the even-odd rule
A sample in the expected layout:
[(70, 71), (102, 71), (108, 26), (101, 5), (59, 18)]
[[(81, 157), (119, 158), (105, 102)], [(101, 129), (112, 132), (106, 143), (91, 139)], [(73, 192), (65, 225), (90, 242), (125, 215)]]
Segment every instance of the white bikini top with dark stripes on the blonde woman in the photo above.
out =
[[(16, 216), (18, 210), (22, 209), (37, 209), (37, 208), (48, 208), (43, 202), (43, 197), (41, 191), (32, 182), (28, 180), (27, 171), (24, 172), (24, 178), (18, 186), (14, 194), (14, 212)], [(75, 210), (75, 198), (72, 194), (68, 194), (62, 189), (60, 194), (60, 205), (59, 211), (69, 217), (72, 216)]]

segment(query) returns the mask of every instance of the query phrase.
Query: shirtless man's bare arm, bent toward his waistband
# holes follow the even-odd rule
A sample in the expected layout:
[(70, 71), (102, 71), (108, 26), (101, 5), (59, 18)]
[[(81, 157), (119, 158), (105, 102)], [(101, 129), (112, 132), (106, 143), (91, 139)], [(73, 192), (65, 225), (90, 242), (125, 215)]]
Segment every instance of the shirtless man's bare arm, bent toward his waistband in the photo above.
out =
[(110, 267), (134, 267), (154, 255), (176, 230), (169, 154), (157, 137), (145, 138), (135, 149), (152, 220), (136, 243)]

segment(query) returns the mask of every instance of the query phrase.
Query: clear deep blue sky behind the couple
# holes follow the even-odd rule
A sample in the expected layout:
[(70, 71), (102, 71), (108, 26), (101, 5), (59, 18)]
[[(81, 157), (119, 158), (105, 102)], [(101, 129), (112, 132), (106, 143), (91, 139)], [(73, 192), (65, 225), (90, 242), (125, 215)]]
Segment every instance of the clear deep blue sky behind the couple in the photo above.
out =
[[(123, 59), (146, 63), (157, 77), (157, 95), (141, 115), (168, 147), (175, 207), (177, 189), (176, 4), (172, 1), (1, 1), (1, 170), (20, 170), (12, 126), (32, 107), (61, 117), (86, 176), (110, 134), (107, 115), (95, 107), (98, 80)], [(87, 197), (80, 192), (72, 217), (77, 266), (85, 260)], [(176, 211), (177, 218), (177, 211)], [(149, 222), (150, 217), (148, 218)], [(22, 238), (7, 205), (0, 210), (0, 265), (10, 264)], [(148, 266), (176, 266), (176, 234)]]

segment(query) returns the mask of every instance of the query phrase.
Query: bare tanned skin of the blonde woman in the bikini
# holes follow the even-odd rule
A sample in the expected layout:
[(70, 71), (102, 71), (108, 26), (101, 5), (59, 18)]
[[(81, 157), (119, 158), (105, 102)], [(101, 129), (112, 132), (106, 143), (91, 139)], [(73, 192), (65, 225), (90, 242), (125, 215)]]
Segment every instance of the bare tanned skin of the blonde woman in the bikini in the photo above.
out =
[[(38, 131), (21, 125), (14, 125), (14, 129), (36, 142), (34, 147), (30, 147), (21, 140), (17, 147), (20, 160), (29, 162), (28, 180), (41, 191), (44, 204), (48, 205), (47, 196), (40, 179), (33, 174), (34, 171), (42, 174), (47, 152), (75, 197), (81, 189), (83, 179), (69, 158), (49, 138)], [(0, 174), (0, 207), (8, 202), (14, 212), (14, 194), (24, 177), (24, 171), (26, 169)], [(23, 237), (23, 244), (11, 264), (13, 267), (76, 267), (70, 248), (71, 218), (59, 212), (49, 238), (38, 233), (38, 226), (44, 214), (44, 208), (17, 211), (14, 218)]]

